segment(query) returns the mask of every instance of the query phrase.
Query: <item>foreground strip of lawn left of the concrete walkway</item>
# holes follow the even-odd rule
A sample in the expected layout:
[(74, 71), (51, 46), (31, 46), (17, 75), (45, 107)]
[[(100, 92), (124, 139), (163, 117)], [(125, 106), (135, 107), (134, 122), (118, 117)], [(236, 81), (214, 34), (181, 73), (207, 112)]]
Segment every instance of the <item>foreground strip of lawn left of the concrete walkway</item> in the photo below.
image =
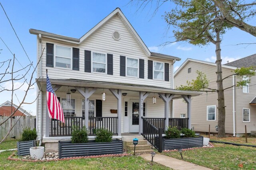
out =
[(0, 153), (0, 170), (169, 170), (140, 156), (86, 158), (77, 160), (63, 160), (53, 162), (22, 162), (7, 160), (12, 151)]

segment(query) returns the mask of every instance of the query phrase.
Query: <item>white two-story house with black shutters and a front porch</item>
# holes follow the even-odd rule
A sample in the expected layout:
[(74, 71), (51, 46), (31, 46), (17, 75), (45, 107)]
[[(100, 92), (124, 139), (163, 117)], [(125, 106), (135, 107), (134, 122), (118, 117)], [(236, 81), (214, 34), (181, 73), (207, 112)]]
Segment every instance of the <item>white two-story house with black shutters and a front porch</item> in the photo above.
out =
[[(89, 135), (99, 127), (109, 128), (118, 138), (122, 133), (140, 134), (141, 116), (165, 117), (168, 123), (170, 99), (184, 97), (189, 102), (200, 94), (172, 88), (173, 64), (180, 58), (150, 52), (119, 8), (81, 38), (34, 29), (30, 33), (37, 36), (38, 60), (43, 53), (37, 71), (42, 93), (36, 127), (44, 142), (54, 136), (70, 139), (70, 124), (85, 125)], [(48, 117), (46, 69), (65, 125)]]

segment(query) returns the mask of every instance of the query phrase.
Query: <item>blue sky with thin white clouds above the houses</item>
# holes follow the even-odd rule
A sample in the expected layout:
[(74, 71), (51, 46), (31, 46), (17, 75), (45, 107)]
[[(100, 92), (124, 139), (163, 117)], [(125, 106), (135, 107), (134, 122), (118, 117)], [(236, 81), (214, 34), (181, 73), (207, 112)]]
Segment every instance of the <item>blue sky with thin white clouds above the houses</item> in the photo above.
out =
[[(170, 3), (161, 6), (153, 17), (154, 6), (147, 6), (143, 10), (136, 12), (138, 10), (137, 4), (129, 4), (129, 0), (2, 0), (1, 4), (20, 38), (24, 49), (28, 53), (28, 57), (34, 63), (36, 63), (36, 36), (29, 34), (28, 30), (30, 28), (80, 38), (117, 7), (122, 10), (150, 51), (173, 55), (182, 59), (175, 63), (176, 69), (187, 58), (215, 62), (215, 46), (212, 44), (198, 47), (186, 42), (177, 42), (166, 47), (158, 47), (158, 45), (166, 41), (173, 41), (172, 38), (168, 38), (172, 37), (173, 28), (170, 28), (170, 31), (166, 33), (167, 24), (162, 17), (165, 11), (172, 8), (172, 4)], [(256, 18), (250, 20), (249, 23), (256, 23)], [(0, 37), (8, 45), (12, 53), (16, 54), (17, 59), (23, 67), (29, 63), (2, 8), (0, 8)], [(237, 28), (228, 30), (223, 36), (221, 44), (223, 61), (234, 61), (235, 59), (256, 53), (255, 44), (236, 45), (238, 43), (255, 42), (256, 38), (246, 32)], [(2, 49), (0, 51), (0, 61), (12, 58), (12, 54), (1, 40), (0, 49)], [(19, 69), (21, 66), (16, 62), (15, 68)], [(1, 69), (0, 71), (2, 72)], [(18, 85), (19, 83), (17, 83)], [(10, 84), (5, 84), (5, 86), (8, 87)], [(16, 92), (18, 98), (22, 96), (24, 89), (25, 87)], [(27, 101), (33, 101), (35, 97), (36, 90), (34, 89), (30, 91)], [(10, 93), (5, 92), (0, 94), (0, 103), (10, 99)], [(18, 104), (16, 98), (14, 98), (14, 103)], [(36, 113), (36, 103), (24, 105), (23, 108), (32, 111), (34, 115)]]

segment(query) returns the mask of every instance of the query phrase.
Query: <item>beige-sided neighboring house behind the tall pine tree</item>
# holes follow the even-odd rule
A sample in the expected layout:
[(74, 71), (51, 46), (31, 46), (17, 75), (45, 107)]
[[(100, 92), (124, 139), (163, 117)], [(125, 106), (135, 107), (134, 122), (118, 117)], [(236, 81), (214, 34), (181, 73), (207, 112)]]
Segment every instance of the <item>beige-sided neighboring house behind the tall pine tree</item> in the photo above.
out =
[[(256, 66), (256, 54), (238, 59), (222, 65), (222, 78), (232, 75), (232, 71), (240, 67)], [(216, 86), (216, 63), (186, 59), (174, 73), (174, 86), (186, 85), (186, 81), (196, 79), (196, 71), (202, 71), (209, 80), (209, 87), (217, 89)], [(246, 77), (244, 77), (246, 79)], [(226, 105), (225, 129), (227, 134), (239, 136), (256, 131), (256, 76), (243, 88), (230, 88), (224, 91)], [(239, 79), (231, 76), (223, 81), (224, 89), (234, 85)], [(218, 125), (218, 95), (216, 92), (208, 92), (192, 97), (191, 126), (196, 132), (217, 133)], [(174, 117), (186, 117), (185, 104), (182, 99), (174, 102)]]

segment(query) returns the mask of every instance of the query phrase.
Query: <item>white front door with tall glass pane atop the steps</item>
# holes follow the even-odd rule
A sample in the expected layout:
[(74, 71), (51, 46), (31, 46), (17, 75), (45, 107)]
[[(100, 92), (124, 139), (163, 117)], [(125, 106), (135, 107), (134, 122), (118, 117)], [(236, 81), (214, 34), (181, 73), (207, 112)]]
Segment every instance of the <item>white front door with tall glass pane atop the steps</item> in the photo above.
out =
[(138, 101), (131, 101), (130, 132), (139, 132), (139, 105)]

